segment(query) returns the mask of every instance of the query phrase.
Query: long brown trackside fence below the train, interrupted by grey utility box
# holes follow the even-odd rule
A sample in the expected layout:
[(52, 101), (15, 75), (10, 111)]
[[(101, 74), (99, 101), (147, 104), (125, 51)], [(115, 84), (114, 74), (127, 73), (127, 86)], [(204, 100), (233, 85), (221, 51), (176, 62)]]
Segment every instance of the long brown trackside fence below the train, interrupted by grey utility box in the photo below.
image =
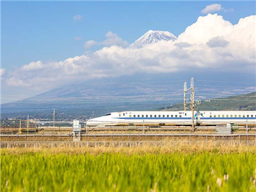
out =
[[(73, 134), (2, 134), (3, 141), (73, 141)], [(256, 134), (81, 134), (81, 141), (256, 141)]]

